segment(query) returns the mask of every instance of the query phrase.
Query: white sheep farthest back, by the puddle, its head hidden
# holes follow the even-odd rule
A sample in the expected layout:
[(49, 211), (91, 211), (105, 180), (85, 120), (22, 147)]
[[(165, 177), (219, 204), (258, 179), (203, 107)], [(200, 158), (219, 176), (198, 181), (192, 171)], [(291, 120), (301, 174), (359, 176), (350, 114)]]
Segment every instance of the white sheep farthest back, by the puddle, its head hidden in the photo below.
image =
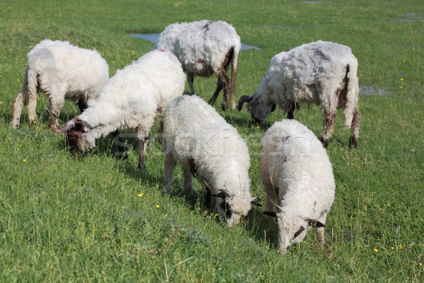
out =
[[(194, 75), (218, 76), (216, 91), (209, 104), (213, 105), (224, 89), (221, 108), (228, 109), (230, 94), (232, 109), (235, 108), (235, 79), (237, 58), (241, 48), (240, 36), (232, 25), (223, 21), (196, 21), (192, 23), (173, 23), (160, 33), (153, 49), (169, 50), (178, 57), (182, 68), (187, 71), (190, 93), (194, 94)], [(227, 75), (231, 64), (231, 81)]]

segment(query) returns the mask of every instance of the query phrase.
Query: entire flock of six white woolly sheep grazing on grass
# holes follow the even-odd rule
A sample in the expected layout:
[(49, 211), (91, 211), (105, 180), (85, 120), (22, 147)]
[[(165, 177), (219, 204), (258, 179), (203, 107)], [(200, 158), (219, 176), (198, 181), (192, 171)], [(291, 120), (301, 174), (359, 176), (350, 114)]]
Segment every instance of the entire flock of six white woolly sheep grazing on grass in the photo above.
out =
[[(169, 25), (151, 52), (143, 55), (109, 79), (105, 59), (95, 50), (69, 42), (43, 40), (27, 54), (23, 87), (13, 107), (12, 126), (18, 128), (23, 105), (36, 119), (38, 92), (49, 97), (52, 130), (66, 133), (71, 151), (86, 153), (95, 140), (118, 129), (136, 129), (139, 168), (151, 128), (160, 117), (165, 156), (164, 186), (172, 193), (172, 173), (181, 164), (184, 189), (192, 190), (192, 176), (204, 187), (204, 202), (216, 197), (216, 210), (228, 226), (247, 215), (259, 198), (250, 195), (250, 156), (237, 129), (215, 108), (194, 96), (194, 76), (216, 74), (218, 83), (209, 104), (223, 90), (223, 110), (228, 100), (234, 109), (237, 57), (240, 37), (222, 21), (199, 21)], [(231, 65), (231, 79), (227, 71)], [(336, 110), (344, 108), (344, 125), (351, 127), (350, 146), (357, 146), (358, 61), (351, 49), (332, 42), (312, 42), (276, 54), (253, 96), (242, 96), (253, 122), (263, 122), (278, 105), (288, 120), (275, 122), (262, 140), (261, 177), (266, 193), (264, 214), (278, 226), (281, 253), (305, 238), (314, 227), (324, 241), (326, 215), (334, 202), (335, 183), (329, 157), (323, 146), (334, 129)], [(192, 96), (182, 96), (187, 77)], [(58, 116), (69, 99), (81, 115), (63, 127)], [(322, 104), (324, 129), (317, 139), (305, 125), (293, 120), (299, 103)], [(125, 156), (125, 146), (118, 142)], [(277, 209), (277, 210), (274, 210)]]

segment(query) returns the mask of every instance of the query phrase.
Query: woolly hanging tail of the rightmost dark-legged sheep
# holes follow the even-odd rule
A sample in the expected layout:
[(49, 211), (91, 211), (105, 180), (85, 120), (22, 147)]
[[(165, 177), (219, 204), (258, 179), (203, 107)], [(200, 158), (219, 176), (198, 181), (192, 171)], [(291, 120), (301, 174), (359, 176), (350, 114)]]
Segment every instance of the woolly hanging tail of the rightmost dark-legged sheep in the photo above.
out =
[(346, 65), (346, 76), (343, 79), (341, 96), (346, 95), (346, 105), (343, 110), (344, 126), (349, 129), (352, 125), (355, 111), (358, 111), (358, 76), (354, 66)]

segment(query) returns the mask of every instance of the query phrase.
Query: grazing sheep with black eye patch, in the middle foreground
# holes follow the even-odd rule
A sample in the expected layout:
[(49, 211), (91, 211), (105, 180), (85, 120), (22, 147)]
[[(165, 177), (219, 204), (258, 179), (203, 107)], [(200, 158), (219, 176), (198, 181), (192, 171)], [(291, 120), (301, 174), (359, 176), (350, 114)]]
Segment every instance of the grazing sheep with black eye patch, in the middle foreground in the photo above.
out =
[[(237, 130), (198, 96), (180, 96), (163, 115), (164, 185), (172, 192), (172, 173), (182, 166), (184, 190), (192, 192), (192, 175), (204, 187), (206, 206), (217, 197), (216, 210), (228, 226), (257, 204), (249, 192), (250, 156)], [(213, 195), (211, 195), (211, 191)]]

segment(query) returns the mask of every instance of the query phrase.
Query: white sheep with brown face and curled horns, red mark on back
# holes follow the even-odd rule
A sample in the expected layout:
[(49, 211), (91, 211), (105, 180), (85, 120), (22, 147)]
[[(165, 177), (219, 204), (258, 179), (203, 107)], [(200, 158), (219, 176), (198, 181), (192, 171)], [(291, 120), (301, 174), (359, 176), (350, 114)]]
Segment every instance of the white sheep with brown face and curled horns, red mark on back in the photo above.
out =
[[(88, 101), (88, 108), (54, 132), (66, 132), (71, 151), (81, 154), (95, 146), (95, 139), (117, 134), (117, 129), (137, 129), (140, 170), (148, 135), (157, 117), (162, 117), (169, 100), (181, 96), (185, 74), (171, 52), (155, 50), (126, 66)], [(119, 140), (120, 151), (124, 144)]]

